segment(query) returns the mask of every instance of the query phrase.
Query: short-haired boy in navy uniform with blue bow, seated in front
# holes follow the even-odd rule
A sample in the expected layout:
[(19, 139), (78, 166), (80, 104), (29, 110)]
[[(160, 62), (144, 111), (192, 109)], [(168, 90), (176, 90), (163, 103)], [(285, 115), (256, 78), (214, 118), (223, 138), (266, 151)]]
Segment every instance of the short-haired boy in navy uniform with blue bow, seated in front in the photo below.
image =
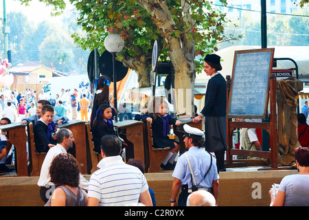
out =
[(36, 151), (47, 152), (50, 147), (57, 144), (56, 127), (53, 122), (54, 108), (45, 104), (41, 109), (41, 118), (34, 125), (34, 142)]

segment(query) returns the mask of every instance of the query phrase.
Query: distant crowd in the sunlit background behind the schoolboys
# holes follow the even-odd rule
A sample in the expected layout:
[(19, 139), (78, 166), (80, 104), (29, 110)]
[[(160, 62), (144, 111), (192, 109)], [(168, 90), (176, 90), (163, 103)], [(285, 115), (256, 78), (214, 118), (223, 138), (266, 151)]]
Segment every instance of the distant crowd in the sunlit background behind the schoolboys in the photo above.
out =
[(66, 116), (70, 120), (89, 121), (88, 115), (91, 114), (93, 96), (87, 87), (82, 91), (61, 89), (54, 100), (49, 98), (43, 89), (40, 93), (33, 89), (25, 89), (25, 91), (8, 89), (0, 96), (0, 115), (9, 118), (12, 123), (21, 122), (23, 118), (36, 114), (39, 100), (49, 100), (54, 107), (55, 115)]

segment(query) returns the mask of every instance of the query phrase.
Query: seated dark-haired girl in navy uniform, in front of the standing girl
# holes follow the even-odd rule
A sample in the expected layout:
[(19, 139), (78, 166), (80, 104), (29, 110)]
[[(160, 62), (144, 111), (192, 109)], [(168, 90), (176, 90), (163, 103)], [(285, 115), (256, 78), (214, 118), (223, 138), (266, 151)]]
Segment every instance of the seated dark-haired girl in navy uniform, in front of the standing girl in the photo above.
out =
[(95, 112), (93, 119), (92, 135), (95, 152), (101, 153), (101, 138), (104, 135), (113, 135), (113, 121), (112, 109), (109, 104), (100, 104), (98, 110)]

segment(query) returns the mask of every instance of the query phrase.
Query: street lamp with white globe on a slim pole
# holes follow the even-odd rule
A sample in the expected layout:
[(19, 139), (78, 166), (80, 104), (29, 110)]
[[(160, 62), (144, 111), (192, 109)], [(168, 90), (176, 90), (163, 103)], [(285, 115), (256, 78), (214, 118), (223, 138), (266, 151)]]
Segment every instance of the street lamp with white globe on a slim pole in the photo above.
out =
[(124, 40), (122, 37), (113, 32), (109, 33), (108, 36), (106, 36), (106, 39), (104, 41), (104, 46), (108, 52), (110, 52), (113, 55), (113, 83), (114, 83), (114, 107), (116, 108), (117, 114), (115, 121), (118, 121), (118, 108), (117, 108), (117, 76), (115, 71), (115, 54), (118, 52), (121, 52), (124, 48)]

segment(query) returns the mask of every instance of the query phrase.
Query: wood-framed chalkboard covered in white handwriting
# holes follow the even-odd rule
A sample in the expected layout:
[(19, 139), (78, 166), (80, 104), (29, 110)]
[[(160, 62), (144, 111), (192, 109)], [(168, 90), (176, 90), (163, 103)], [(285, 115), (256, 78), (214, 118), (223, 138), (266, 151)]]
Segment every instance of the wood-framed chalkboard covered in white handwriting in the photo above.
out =
[(274, 50), (235, 52), (227, 118), (266, 118)]

